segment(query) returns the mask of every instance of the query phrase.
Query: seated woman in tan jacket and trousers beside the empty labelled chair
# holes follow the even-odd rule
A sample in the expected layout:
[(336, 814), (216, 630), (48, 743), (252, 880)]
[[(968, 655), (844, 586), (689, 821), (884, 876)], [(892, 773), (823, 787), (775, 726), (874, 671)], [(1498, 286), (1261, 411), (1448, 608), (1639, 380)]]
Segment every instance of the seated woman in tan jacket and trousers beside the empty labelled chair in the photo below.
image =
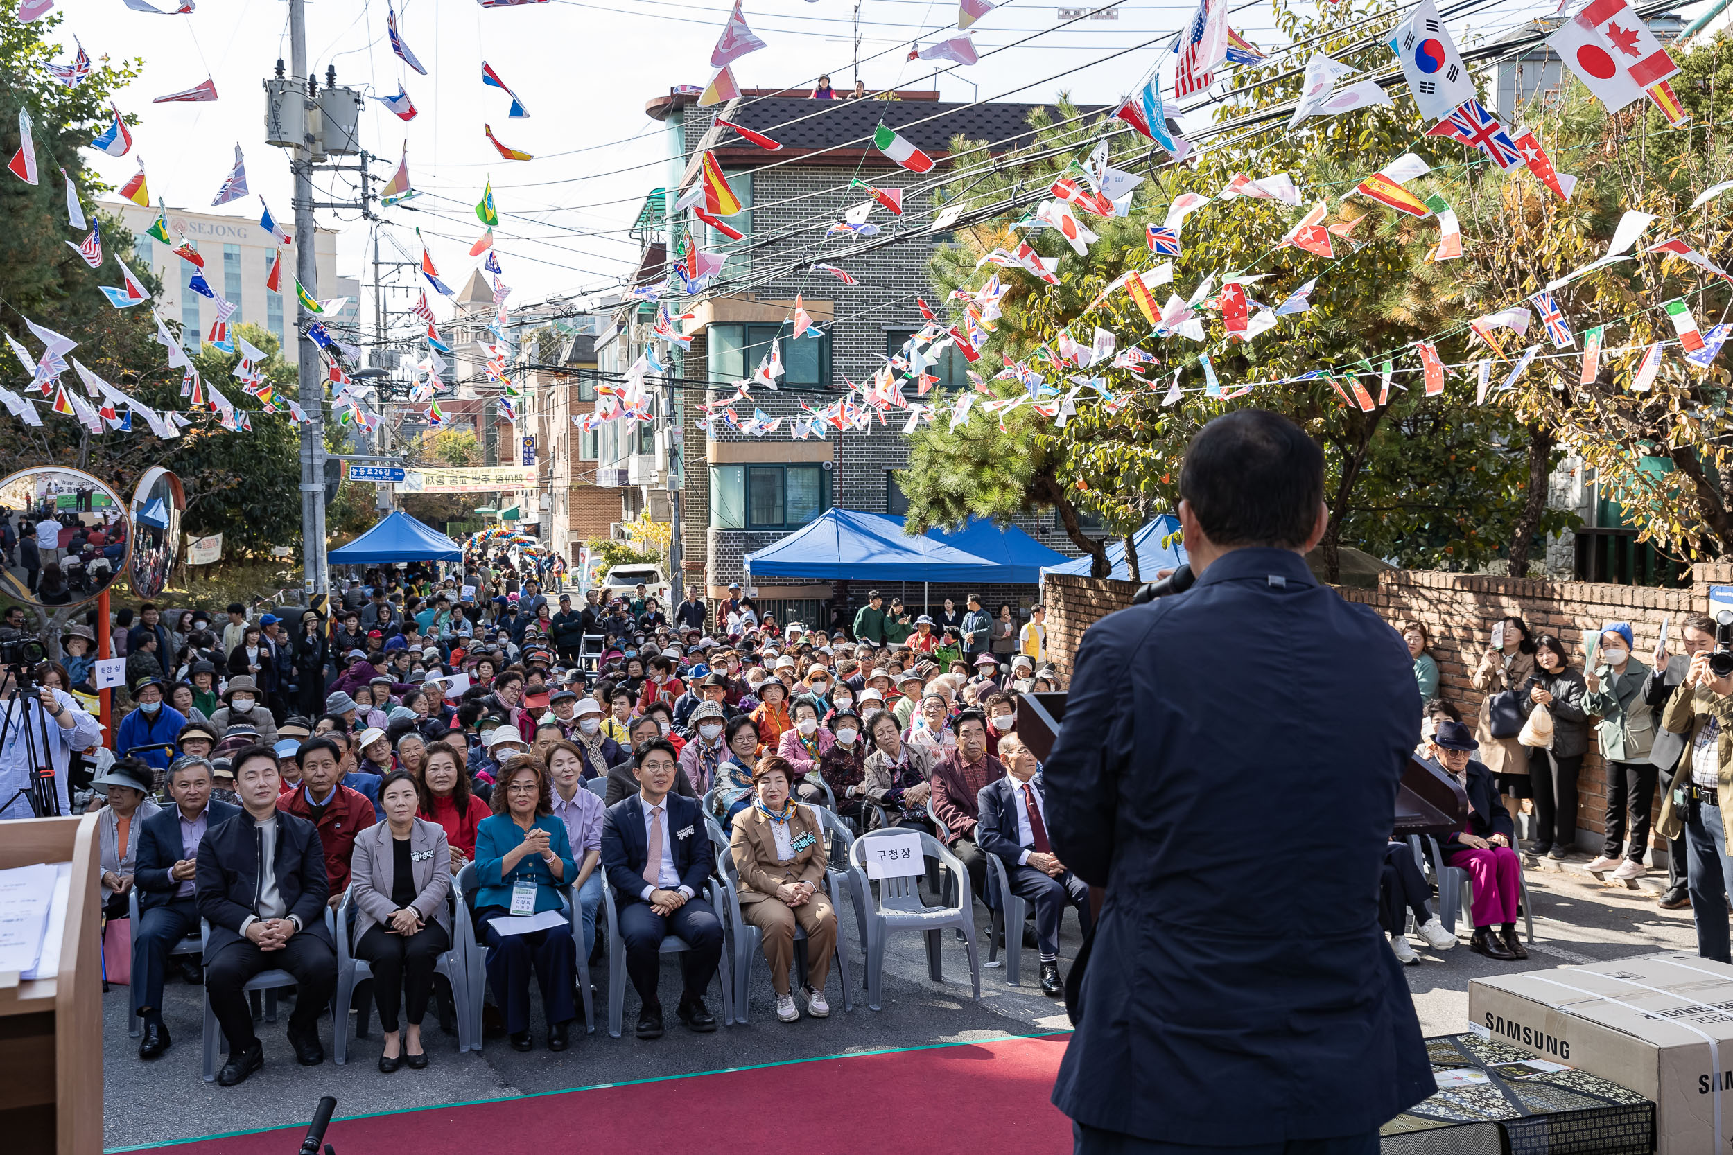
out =
[(766, 755), (752, 771), (757, 798), (735, 816), (728, 843), (740, 873), (740, 916), (764, 933), (764, 959), (776, 989), (776, 1018), (801, 1016), (789, 987), (794, 965), (794, 926), (806, 932), (806, 1010), (813, 1018), (830, 1013), (825, 977), (837, 945), (837, 913), (820, 888), (825, 880), (825, 833), (811, 807), (789, 800), (794, 767)]

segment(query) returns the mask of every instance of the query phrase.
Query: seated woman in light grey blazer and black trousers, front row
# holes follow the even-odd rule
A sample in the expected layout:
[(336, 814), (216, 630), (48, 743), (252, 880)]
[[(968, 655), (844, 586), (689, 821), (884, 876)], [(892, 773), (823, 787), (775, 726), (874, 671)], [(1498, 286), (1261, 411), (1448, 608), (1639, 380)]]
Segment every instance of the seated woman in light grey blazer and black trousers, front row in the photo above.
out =
[[(380, 784), (385, 821), (355, 835), (350, 895), (355, 902), (355, 958), (373, 968), (385, 1049), (380, 1070), (428, 1065), (421, 1018), (433, 994), (433, 966), (451, 949), (451, 847), (438, 823), (416, 817), (419, 788), (407, 771)], [(406, 1001), (409, 1037), (397, 1032), (397, 1003)]]

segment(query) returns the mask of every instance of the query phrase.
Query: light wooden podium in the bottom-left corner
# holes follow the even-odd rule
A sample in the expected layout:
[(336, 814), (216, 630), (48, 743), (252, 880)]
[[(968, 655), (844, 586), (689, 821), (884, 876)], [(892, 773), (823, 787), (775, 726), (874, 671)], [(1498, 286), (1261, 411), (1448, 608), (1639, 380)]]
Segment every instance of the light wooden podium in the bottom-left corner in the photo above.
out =
[[(16, 1155), (102, 1152), (102, 944), (97, 817), (0, 823), (0, 868), (71, 862), (52, 977), (0, 973), (0, 1134)], [(50, 933), (55, 930), (50, 926)], [(45, 944), (47, 949), (47, 944)]]

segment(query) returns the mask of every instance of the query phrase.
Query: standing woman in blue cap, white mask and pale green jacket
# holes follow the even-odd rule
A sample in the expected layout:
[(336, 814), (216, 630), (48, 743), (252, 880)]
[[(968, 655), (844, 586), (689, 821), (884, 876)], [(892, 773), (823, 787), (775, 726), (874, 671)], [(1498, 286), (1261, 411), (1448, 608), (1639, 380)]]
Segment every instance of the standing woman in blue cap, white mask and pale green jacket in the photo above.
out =
[[(1631, 625), (1608, 622), (1601, 627), (1598, 661), (1582, 675), (1587, 693), (1582, 708), (1600, 715), (1596, 739), (1606, 762), (1606, 842), (1589, 871), (1612, 871), (1619, 881), (1648, 873), (1648, 812), (1655, 802), (1655, 712), (1643, 698), (1648, 667), (1631, 656)], [(1631, 850), (1624, 852), (1626, 810), (1631, 814)]]

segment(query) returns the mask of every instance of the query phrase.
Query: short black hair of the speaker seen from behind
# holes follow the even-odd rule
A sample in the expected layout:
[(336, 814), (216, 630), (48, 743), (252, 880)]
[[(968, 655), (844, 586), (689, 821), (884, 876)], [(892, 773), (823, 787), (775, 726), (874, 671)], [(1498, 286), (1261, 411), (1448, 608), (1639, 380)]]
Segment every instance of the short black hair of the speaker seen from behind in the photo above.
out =
[(1217, 545), (1301, 549), (1324, 500), (1324, 450), (1267, 409), (1223, 414), (1185, 448), (1180, 497)]

